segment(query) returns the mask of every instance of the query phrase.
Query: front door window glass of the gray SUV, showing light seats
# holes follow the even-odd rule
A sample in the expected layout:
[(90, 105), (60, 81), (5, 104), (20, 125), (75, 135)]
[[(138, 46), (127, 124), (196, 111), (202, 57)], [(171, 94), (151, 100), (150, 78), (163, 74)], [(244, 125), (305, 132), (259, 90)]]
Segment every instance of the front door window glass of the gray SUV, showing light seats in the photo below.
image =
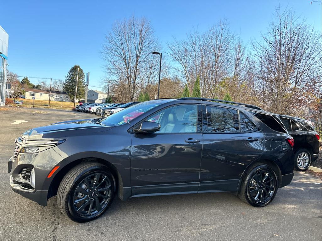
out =
[(161, 128), (156, 133), (197, 132), (198, 106), (176, 105), (150, 116), (147, 121), (156, 122)]

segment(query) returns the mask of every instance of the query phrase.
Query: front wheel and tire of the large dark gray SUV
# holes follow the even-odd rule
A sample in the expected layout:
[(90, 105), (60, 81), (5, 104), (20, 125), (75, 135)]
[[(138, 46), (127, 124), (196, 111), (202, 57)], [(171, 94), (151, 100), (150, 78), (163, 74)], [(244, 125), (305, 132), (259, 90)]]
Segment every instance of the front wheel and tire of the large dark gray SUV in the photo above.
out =
[(115, 179), (99, 163), (82, 163), (62, 179), (57, 191), (59, 209), (75, 222), (97, 219), (110, 206), (115, 192)]

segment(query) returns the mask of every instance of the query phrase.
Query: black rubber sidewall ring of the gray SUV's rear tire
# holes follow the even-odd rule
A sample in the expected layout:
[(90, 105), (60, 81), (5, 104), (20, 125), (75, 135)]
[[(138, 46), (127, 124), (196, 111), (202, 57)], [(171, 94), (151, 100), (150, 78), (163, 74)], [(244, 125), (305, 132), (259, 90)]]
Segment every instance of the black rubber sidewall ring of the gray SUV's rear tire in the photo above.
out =
[[(249, 186), (249, 184), (251, 183), (251, 179), (252, 179), (252, 177), (253, 177), (253, 175), (256, 173), (256, 172), (258, 172), (258, 171), (262, 171), (262, 170), (269, 170), (272, 174), (274, 174), (274, 179), (275, 179), (275, 191), (274, 191), (274, 193), (273, 193), (273, 195), (272, 195), (272, 197), (270, 198), (270, 200), (268, 200), (267, 202), (265, 202), (265, 203), (257, 203), (257, 202), (254, 202), (253, 200), (252, 200), (252, 198), (249, 196), (249, 192), (248, 192), (248, 186)], [(272, 168), (270, 168), (268, 165), (265, 165), (265, 164), (263, 164), (263, 165), (258, 165), (258, 166), (255, 166), (252, 170), (251, 170), (251, 172), (247, 175), (247, 178), (246, 178), (246, 185), (244, 186), (244, 188), (246, 188), (246, 189), (244, 189), (243, 191), (243, 193), (244, 193), (244, 195), (246, 195), (246, 200), (247, 200), (247, 202), (251, 205), (251, 206), (254, 206), (254, 207), (265, 207), (265, 206), (267, 206), (268, 204), (270, 204), (270, 202), (271, 201), (273, 201), (273, 199), (275, 198), (275, 195), (276, 195), (276, 193), (277, 193), (277, 190), (278, 190), (278, 181), (277, 181), (278, 179), (277, 179), (277, 176), (276, 176), (276, 173), (274, 172), (274, 170), (272, 169)]]

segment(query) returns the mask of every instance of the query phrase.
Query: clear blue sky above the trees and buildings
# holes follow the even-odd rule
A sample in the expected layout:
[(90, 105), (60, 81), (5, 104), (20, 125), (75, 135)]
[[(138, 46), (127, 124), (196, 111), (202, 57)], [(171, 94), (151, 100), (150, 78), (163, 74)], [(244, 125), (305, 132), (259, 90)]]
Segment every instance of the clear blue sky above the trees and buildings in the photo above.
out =
[[(90, 85), (105, 76), (99, 51), (115, 20), (135, 14), (149, 19), (163, 46), (198, 27), (208, 29), (227, 18), (244, 41), (265, 32), (276, 6), (292, 7), (321, 31), (321, 5), (294, 1), (10, 1), (1, 2), (0, 25), (9, 34), (8, 69), (19, 76), (65, 79), (79, 64)], [(164, 56), (166, 57), (166, 56)], [(37, 79), (31, 79), (38, 84)], [(99, 89), (90, 87), (91, 89)]]

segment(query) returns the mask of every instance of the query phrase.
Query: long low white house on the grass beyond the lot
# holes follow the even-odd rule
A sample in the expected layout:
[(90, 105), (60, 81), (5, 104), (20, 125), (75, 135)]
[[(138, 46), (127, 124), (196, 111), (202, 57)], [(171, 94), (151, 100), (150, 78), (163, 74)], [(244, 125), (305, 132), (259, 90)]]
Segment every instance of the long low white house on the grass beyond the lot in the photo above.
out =
[[(38, 90), (38, 89), (27, 89), (24, 88), (25, 98), (32, 100), (35, 97), (35, 100), (49, 100), (49, 91), (47, 90)], [(63, 101), (63, 102), (70, 102), (71, 98), (68, 96), (66, 92), (61, 91), (52, 91), (50, 93), (50, 100), (51, 101)]]

